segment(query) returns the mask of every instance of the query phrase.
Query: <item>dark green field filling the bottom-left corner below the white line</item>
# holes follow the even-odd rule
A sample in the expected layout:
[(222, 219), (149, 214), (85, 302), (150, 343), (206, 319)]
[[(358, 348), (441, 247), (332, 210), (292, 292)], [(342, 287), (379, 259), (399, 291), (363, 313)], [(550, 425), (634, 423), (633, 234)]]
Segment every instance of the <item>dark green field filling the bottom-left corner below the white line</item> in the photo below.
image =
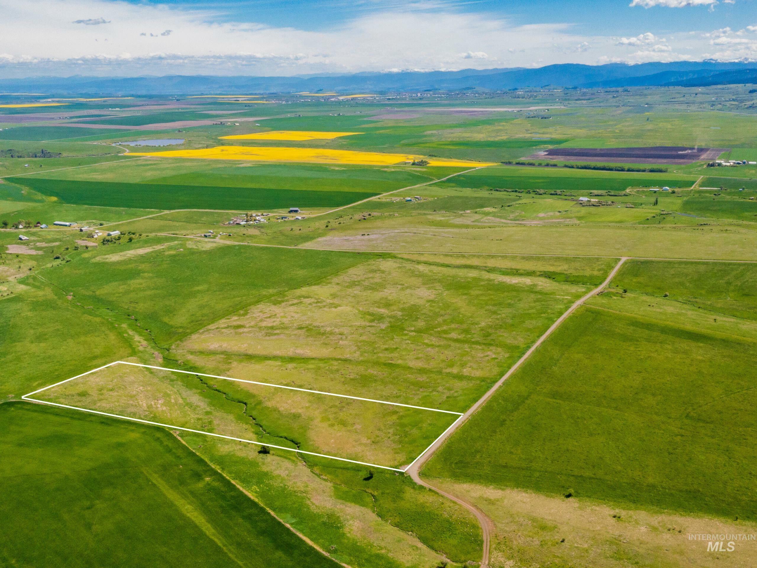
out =
[(18, 402), (0, 424), (6, 566), (338, 566), (164, 429)]

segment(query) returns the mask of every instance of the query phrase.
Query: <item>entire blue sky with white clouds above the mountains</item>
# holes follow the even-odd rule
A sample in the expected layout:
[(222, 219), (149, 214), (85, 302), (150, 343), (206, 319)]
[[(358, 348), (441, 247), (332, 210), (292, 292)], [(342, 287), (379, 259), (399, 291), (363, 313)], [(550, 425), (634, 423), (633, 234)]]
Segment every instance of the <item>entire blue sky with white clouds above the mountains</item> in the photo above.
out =
[(757, 0), (0, 0), (0, 76), (757, 60)]

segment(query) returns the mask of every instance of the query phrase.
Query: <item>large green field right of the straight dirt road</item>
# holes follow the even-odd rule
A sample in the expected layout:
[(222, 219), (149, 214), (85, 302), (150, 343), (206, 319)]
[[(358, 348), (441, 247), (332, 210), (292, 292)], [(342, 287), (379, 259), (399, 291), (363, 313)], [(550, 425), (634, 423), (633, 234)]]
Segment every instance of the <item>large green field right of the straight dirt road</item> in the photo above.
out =
[[(733, 302), (728, 292), (754, 277), (754, 265), (630, 262), (613, 290), (635, 294), (610, 292), (570, 317), (425, 473), (757, 519), (757, 424), (744, 412), (757, 327), (749, 292)], [(655, 294), (668, 286), (674, 295)], [(637, 294), (655, 310), (641, 312)]]

